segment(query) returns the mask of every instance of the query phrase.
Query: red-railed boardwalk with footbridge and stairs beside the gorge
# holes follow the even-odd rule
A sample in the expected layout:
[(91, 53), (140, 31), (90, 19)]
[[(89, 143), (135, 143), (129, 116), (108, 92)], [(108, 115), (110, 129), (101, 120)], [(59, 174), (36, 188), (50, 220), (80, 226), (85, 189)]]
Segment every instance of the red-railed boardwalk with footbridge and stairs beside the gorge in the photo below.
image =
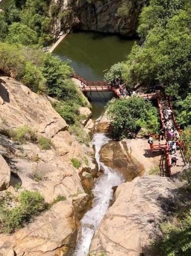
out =
[[(118, 98), (123, 98), (124, 96), (121, 95), (120, 91), (112, 86), (110, 86), (107, 82), (100, 82), (100, 81), (86, 81), (84, 78), (82, 78), (81, 76), (75, 74), (74, 78), (76, 78), (76, 80), (82, 83), (81, 86), (81, 90), (83, 93), (86, 92), (92, 92), (92, 91), (113, 91), (115, 93), (115, 95)], [(163, 128), (165, 128), (164, 125), (164, 118), (163, 118), (163, 111), (166, 109), (171, 108), (172, 109), (172, 104), (170, 102), (170, 99), (166, 98), (166, 95), (164, 95), (164, 93), (160, 93), (159, 91), (156, 91), (154, 93), (149, 93), (149, 94), (136, 94), (137, 97), (143, 97), (145, 100), (157, 100), (158, 103), (158, 110), (159, 110), (159, 116), (160, 116), (160, 123), (161, 126)], [(127, 96), (126, 98), (128, 99)], [(173, 111), (173, 109), (172, 109)], [(174, 116), (174, 112), (172, 112), (172, 117), (169, 120), (170, 124), (172, 126), (174, 126), (177, 131), (180, 133), (180, 127), (178, 126), (176, 120), (175, 120), (175, 116)], [(159, 137), (157, 135), (157, 137)], [(185, 166), (185, 160), (184, 160), (184, 156), (183, 156), (183, 152), (182, 150), (177, 150), (176, 151), (176, 155), (178, 156), (179, 160), (177, 162), (177, 166), (173, 166), (171, 165), (171, 154), (170, 154), (170, 147), (169, 147), (169, 143), (167, 140), (167, 136), (165, 134), (165, 139), (164, 141), (162, 141), (162, 144), (159, 143), (159, 141), (154, 141), (153, 145), (150, 144), (150, 151), (152, 156), (154, 157), (154, 154), (156, 154), (155, 152), (159, 152), (161, 155), (160, 158), (160, 163), (159, 163), (159, 167), (160, 167), (160, 175), (161, 176), (174, 176), (177, 174), (177, 172), (179, 172), (181, 170), (182, 167)]]

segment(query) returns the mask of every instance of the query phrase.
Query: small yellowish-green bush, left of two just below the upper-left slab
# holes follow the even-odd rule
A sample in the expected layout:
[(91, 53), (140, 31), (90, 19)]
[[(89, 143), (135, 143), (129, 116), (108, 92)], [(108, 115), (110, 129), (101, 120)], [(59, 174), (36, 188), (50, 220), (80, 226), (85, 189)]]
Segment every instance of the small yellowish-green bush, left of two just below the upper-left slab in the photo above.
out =
[(25, 143), (26, 141), (30, 142), (36, 142), (37, 136), (32, 128), (30, 128), (28, 125), (23, 125), (19, 127), (16, 131), (16, 141), (20, 143)]

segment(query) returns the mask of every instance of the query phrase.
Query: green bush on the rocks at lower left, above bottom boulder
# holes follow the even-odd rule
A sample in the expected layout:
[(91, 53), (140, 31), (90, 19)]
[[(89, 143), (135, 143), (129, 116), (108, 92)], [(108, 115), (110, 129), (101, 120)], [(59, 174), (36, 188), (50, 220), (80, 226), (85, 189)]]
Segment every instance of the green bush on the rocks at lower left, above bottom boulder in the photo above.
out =
[(22, 191), (18, 199), (19, 205), (9, 208), (12, 200), (11, 196), (0, 198), (1, 231), (5, 233), (12, 233), (46, 209), (44, 199), (37, 191)]

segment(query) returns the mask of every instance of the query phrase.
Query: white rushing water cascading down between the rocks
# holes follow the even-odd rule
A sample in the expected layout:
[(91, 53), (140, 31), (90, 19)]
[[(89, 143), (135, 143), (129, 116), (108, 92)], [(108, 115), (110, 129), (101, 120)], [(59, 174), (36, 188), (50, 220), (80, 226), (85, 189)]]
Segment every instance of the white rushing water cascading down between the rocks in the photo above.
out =
[(95, 146), (95, 157), (98, 162), (99, 170), (102, 167), (104, 174), (97, 180), (92, 193), (94, 195), (93, 206), (87, 211), (81, 220), (81, 230), (78, 233), (77, 246), (74, 252), (75, 256), (86, 256), (89, 252), (90, 243), (94, 231), (98, 228), (109, 202), (113, 196), (112, 187), (120, 185), (124, 182), (121, 174), (113, 171), (100, 162), (100, 149), (107, 144), (110, 139), (103, 133), (96, 133), (93, 136), (93, 144)]

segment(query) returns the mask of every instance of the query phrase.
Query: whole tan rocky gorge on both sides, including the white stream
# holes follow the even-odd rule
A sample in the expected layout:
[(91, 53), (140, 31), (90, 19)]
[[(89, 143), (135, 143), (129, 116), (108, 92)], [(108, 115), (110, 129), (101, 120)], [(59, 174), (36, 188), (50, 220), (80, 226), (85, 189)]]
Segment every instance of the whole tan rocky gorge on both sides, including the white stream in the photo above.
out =
[[(39, 191), (49, 204), (58, 195), (66, 198), (15, 233), (0, 234), (1, 255), (81, 256), (88, 251), (90, 255), (148, 255), (146, 247), (159, 233), (166, 210), (176, 206), (177, 191), (183, 184), (145, 176), (156, 163), (136, 159), (141, 139), (133, 143), (108, 139), (102, 133), (107, 132), (105, 118), (93, 139), (96, 164), (92, 147), (80, 145), (67, 131), (68, 125), (52, 108), (49, 97), (37, 95), (7, 76), (1, 76), (0, 89), (1, 195), (10, 192), (18, 198), (21, 191)], [(81, 111), (89, 118), (88, 109)], [(19, 145), (9, 139), (5, 131), (23, 124), (50, 138), (54, 147), (42, 150), (31, 142)], [(81, 161), (80, 168), (71, 164), (73, 157)], [(43, 173), (39, 181), (34, 179), (38, 171)], [(17, 183), (21, 187), (15, 189)]]

